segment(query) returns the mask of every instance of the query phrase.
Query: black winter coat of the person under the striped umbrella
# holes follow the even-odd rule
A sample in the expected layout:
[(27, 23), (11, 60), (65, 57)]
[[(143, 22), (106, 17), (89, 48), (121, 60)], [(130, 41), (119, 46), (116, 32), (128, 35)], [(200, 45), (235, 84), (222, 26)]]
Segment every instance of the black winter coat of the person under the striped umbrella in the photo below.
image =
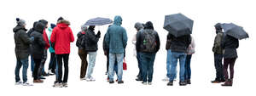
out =
[(85, 33), (84, 39), (84, 50), (86, 52), (96, 52), (98, 50), (98, 44), (100, 37), (96, 37), (94, 31), (88, 29)]

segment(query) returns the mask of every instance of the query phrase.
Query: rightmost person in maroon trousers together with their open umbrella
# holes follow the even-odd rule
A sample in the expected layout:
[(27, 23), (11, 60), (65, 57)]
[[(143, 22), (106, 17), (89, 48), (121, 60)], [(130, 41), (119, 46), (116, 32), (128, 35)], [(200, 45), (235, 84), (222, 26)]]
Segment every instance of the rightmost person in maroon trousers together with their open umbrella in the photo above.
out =
[[(234, 77), (234, 65), (236, 62), (237, 52), (236, 48), (239, 47), (238, 39), (249, 37), (247, 32), (243, 30), (241, 26), (235, 24), (222, 24), (224, 33), (224, 41), (221, 43), (221, 47), (224, 49), (224, 77), (225, 82), (221, 86), (232, 86)], [(228, 73), (228, 66), (230, 65), (230, 77)]]

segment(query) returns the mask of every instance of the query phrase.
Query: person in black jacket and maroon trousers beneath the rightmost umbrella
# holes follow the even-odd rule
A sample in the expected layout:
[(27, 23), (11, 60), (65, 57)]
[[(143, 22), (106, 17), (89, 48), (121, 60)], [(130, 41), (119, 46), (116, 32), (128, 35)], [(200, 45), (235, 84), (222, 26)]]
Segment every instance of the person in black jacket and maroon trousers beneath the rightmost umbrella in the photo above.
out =
[[(236, 48), (239, 47), (239, 41), (235, 37), (226, 35), (222, 42), (222, 48), (224, 48), (224, 77), (225, 82), (222, 86), (232, 86), (234, 76), (234, 65), (236, 62), (237, 52)], [(228, 66), (230, 65), (230, 78), (228, 73)]]

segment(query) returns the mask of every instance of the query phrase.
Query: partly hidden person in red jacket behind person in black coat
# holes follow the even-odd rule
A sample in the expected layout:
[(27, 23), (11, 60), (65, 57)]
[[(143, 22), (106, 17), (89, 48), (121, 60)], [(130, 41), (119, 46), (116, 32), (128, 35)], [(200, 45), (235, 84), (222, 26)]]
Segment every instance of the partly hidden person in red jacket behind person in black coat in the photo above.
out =
[(43, 38), (44, 38), (44, 42), (45, 42), (45, 47), (44, 47), (44, 57), (43, 57), (43, 59), (41, 61), (40, 67), (39, 67), (39, 71), (42, 71), (42, 72), (39, 72), (38, 76), (40, 76), (41, 79), (45, 79), (43, 76), (49, 76), (44, 71), (44, 64), (45, 64), (45, 61), (47, 59), (47, 49), (49, 48), (49, 39), (48, 39), (48, 36), (46, 34), (46, 31), (45, 31), (45, 29), (47, 29), (47, 27), (48, 27), (48, 21), (47, 20), (39, 20), (39, 22), (44, 24)]

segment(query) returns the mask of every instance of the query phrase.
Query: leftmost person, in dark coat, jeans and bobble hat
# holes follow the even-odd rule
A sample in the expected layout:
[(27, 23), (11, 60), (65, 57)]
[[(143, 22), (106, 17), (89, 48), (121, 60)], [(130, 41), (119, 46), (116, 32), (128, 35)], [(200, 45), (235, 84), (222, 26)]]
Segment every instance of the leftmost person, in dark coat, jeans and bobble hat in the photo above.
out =
[[(15, 84), (23, 84), (24, 86), (28, 86), (30, 84), (27, 82), (26, 71), (28, 67), (29, 44), (32, 43), (33, 37), (30, 38), (26, 35), (27, 30), (25, 28), (25, 20), (17, 18), (16, 21), (17, 25), (13, 29), (13, 31), (15, 32), (15, 55), (17, 59), (15, 67)], [(20, 68), (22, 65), (23, 82), (20, 81)]]

